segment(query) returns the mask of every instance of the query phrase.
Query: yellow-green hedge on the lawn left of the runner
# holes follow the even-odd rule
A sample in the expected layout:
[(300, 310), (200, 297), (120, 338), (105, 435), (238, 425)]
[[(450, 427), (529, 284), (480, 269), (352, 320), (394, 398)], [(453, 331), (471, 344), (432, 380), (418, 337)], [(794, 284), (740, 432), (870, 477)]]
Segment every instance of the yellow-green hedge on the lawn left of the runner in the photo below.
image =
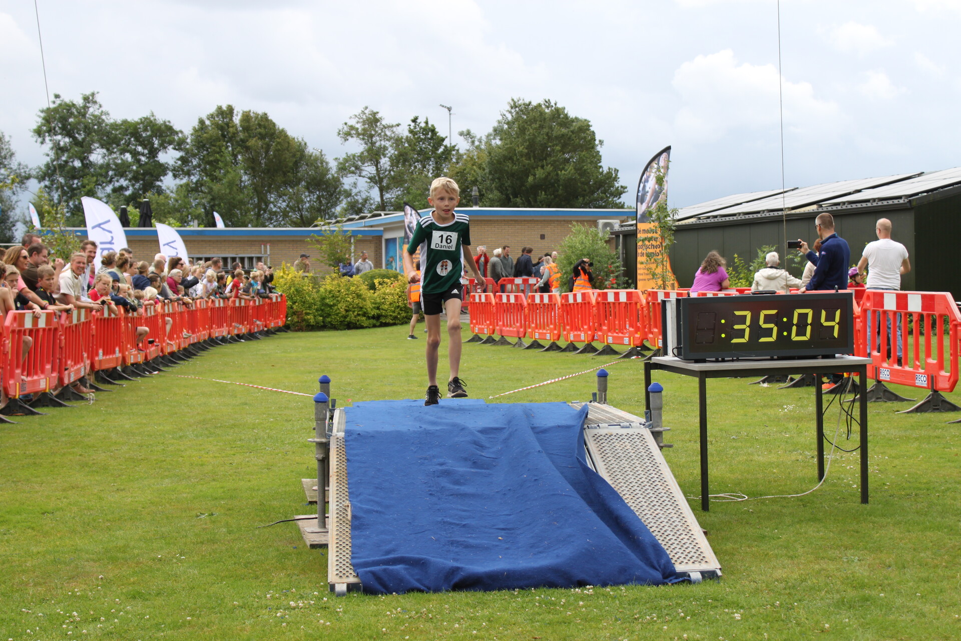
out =
[[(388, 276), (378, 278), (383, 273)], [(370, 274), (374, 276), (363, 278)], [(400, 274), (386, 269), (357, 278), (333, 273), (318, 279), (284, 264), (274, 276), (274, 286), (287, 297), (287, 326), (295, 332), (357, 330), (410, 320), (407, 283)]]

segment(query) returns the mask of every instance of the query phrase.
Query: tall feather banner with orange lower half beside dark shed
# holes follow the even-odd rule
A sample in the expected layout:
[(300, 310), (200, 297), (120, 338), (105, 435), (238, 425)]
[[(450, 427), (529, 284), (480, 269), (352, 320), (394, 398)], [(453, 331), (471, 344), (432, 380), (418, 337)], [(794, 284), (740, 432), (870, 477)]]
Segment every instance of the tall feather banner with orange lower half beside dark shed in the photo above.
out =
[[(650, 215), (658, 203), (667, 202), (667, 170), (671, 162), (670, 145), (654, 154), (637, 182), (637, 289), (646, 291), (664, 285), (678, 287), (671, 259), (664, 255), (664, 243)], [(657, 184), (658, 173), (662, 180)], [(665, 272), (665, 274), (658, 274)], [(666, 278), (661, 278), (666, 276)]]

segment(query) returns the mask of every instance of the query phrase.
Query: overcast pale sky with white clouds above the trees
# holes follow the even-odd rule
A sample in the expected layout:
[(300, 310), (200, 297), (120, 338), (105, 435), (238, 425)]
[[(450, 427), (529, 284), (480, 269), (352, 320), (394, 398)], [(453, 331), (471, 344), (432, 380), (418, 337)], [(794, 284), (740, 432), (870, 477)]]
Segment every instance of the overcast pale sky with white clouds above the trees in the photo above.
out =
[[(267, 111), (343, 153), (370, 106), (486, 133), (511, 97), (588, 118), (633, 192), (670, 144), (683, 207), (780, 185), (774, 0), (37, 0), (50, 92), (188, 131)], [(813, 185), (961, 165), (961, 0), (782, 0), (785, 178)], [(34, 3), (0, 0), (0, 131), (37, 164), (46, 105)]]

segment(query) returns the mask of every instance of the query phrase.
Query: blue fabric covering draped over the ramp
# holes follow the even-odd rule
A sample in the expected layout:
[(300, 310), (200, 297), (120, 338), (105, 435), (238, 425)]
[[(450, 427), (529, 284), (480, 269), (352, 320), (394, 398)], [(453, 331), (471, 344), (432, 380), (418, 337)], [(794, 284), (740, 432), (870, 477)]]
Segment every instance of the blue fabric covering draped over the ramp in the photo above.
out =
[(352, 561), (365, 592), (678, 580), (587, 466), (586, 408), (479, 400), (347, 407)]

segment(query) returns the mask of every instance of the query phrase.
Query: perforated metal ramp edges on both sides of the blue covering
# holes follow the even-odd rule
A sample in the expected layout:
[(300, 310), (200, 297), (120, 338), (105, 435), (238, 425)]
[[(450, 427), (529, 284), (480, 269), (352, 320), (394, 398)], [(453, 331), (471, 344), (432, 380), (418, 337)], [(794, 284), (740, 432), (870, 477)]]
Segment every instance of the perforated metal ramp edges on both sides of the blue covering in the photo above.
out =
[[(572, 403), (572, 407), (583, 404)], [(587, 404), (584, 447), (588, 461), (617, 490), (674, 562), (694, 582), (721, 576), (721, 565), (694, 511), (641, 418), (616, 407)], [(331, 506), (328, 581), (344, 595), (360, 589), (351, 563), (351, 504), (344, 450), (346, 416), (338, 407), (331, 436)]]

